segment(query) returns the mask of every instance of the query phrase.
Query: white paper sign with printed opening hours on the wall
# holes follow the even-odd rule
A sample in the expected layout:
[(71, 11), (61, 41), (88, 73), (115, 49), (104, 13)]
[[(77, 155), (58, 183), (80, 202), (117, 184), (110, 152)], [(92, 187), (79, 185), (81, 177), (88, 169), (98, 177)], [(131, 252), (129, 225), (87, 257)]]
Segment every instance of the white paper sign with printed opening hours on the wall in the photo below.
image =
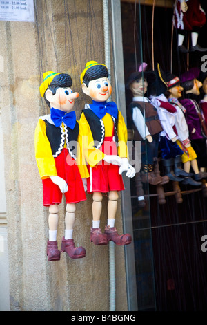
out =
[(34, 22), (34, 1), (0, 0), (0, 20)]

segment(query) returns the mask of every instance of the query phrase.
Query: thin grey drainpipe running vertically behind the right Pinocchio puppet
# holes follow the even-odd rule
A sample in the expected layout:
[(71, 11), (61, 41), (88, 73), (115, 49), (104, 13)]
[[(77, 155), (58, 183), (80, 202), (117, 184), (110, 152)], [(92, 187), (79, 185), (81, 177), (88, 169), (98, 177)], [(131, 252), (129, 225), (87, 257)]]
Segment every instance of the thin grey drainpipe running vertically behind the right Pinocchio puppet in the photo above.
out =
[[(104, 51), (105, 64), (110, 73), (110, 29), (108, 19), (108, 0), (103, 0), (103, 31), (104, 31)], [(108, 243), (109, 252), (109, 310), (116, 310), (116, 282), (115, 282), (115, 243)]]

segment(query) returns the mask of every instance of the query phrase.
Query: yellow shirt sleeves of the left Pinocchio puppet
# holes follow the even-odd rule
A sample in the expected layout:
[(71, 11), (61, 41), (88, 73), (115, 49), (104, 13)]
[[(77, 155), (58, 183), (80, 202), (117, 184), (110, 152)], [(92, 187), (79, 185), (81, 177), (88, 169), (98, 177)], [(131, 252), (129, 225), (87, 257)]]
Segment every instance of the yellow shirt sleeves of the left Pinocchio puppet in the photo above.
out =
[[(79, 145), (78, 137), (77, 145), (77, 160), (76, 163), (79, 167), (81, 178), (87, 178), (89, 176), (88, 169), (86, 167), (85, 159), (82, 158), (81, 147)], [(52, 149), (48, 137), (46, 136), (46, 123), (39, 118), (37, 127), (34, 134), (34, 147), (35, 158), (37, 161), (37, 167), (41, 179), (48, 178), (50, 176), (57, 176), (57, 170), (55, 167), (55, 158), (52, 156)], [(64, 145), (66, 147), (66, 143)]]

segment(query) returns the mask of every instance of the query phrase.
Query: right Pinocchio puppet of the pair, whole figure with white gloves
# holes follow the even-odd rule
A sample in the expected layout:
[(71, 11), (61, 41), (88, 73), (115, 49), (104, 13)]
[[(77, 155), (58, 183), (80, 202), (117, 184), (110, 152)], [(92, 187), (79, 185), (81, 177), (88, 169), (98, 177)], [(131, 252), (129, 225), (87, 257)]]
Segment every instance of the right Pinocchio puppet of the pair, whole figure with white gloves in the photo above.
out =
[[(119, 235), (115, 228), (115, 214), (119, 191), (124, 190), (121, 174), (135, 176), (135, 169), (128, 163), (127, 129), (121, 111), (115, 102), (107, 102), (112, 92), (108, 68), (96, 61), (86, 63), (81, 73), (83, 93), (91, 98), (79, 120), (80, 141), (88, 163), (90, 177), (88, 193), (92, 194), (92, 228), (90, 241), (95, 245), (128, 245), (130, 234)], [(108, 221), (101, 232), (100, 218), (103, 194), (108, 194)]]

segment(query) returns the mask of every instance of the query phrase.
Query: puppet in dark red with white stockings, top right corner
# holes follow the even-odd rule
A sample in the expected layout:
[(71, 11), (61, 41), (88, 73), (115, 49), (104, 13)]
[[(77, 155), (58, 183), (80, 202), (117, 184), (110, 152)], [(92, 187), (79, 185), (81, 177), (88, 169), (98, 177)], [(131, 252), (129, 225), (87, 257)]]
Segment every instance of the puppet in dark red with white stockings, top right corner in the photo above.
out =
[(190, 51), (207, 51), (197, 44), (199, 31), (206, 24), (206, 13), (201, 8), (199, 0), (176, 0), (173, 15), (173, 24), (177, 28), (177, 44), (181, 53), (188, 53), (189, 50), (184, 46), (184, 38), (187, 32), (191, 35)]

